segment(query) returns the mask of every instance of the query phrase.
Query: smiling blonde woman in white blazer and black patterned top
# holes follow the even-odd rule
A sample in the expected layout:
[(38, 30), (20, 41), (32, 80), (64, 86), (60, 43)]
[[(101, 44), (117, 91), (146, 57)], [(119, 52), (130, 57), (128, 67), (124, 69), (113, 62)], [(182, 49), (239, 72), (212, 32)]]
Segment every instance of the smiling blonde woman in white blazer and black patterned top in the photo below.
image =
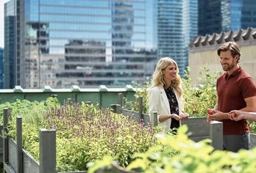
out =
[(174, 59), (160, 59), (149, 89), (149, 115), (157, 111), (158, 125), (166, 132), (179, 128), (180, 120), (188, 119), (188, 114), (182, 113), (182, 81), (178, 73), (179, 68)]

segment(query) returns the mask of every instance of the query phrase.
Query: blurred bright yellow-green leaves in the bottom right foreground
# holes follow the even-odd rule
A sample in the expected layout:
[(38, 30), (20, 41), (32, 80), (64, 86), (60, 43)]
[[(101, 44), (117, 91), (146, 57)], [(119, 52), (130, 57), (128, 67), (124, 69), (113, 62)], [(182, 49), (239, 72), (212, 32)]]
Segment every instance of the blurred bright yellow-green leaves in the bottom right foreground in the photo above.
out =
[[(213, 150), (209, 140), (194, 142), (188, 139), (187, 130), (186, 126), (182, 126), (177, 136), (157, 135), (160, 144), (146, 152), (136, 154), (135, 161), (132, 161), (127, 169), (139, 168), (141, 172), (146, 173), (255, 172), (256, 148), (250, 151), (240, 150), (238, 153)], [(178, 154), (170, 153), (170, 149)], [(107, 161), (111, 163), (110, 158)], [(97, 161), (97, 169), (101, 168), (100, 164), (101, 161)], [(105, 166), (107, 166), (106, 162), (102, 164), (102, 167)], [(93, 166), (91, 168), (96, 170)]]

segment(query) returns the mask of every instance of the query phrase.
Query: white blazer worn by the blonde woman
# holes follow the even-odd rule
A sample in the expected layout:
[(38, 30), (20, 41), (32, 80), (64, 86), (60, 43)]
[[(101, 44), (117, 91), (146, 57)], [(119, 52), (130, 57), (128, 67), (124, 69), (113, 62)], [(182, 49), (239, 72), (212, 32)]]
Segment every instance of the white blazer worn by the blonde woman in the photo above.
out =
[[(177, 91), (174, 89), (174, 94), (176, 95), (178, 105), (179, 105), (179, 114), (182, 113), (182, 100), (177, 95)], [(158, 125), (164, 128), (164, 131), (167, 132), (170, 130), (171, 127), (171, 118), (166, 119), (164, 122), (159, 122), (159, 117), (161, 115), (171, 114), (170, 111), (170, 104), (163, 87), (152, 87), (149, 89), (148, 94), (148, 101), (149, 101), (149, 117), (153, 117), (153, 112), (157, 111), (157, 122)], [(179, 121), (180, 125), (180, 121)]]

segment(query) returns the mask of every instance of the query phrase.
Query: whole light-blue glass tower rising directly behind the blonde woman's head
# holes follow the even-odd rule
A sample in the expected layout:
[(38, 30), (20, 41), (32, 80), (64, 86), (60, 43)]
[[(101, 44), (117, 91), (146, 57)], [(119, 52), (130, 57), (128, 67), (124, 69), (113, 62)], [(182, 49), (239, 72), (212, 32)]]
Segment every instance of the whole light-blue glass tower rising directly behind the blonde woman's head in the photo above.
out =
[(157, 1), (157, 51), (179, 65), (182, 76), (188, 66), (188, 44), (197, 35), (197, 1)]

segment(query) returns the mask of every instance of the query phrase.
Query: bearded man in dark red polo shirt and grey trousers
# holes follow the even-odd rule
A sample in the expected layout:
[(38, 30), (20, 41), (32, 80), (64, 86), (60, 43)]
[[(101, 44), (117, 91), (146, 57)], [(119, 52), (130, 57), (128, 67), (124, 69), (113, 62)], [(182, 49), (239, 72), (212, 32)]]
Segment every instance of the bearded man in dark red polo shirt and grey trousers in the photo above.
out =
[(235, 121), (228, 117), (228, 113), (232, 110), (256, 111), (255, 81), (238, 65), (241, 51), (237, 43), (221, 45), (218, 56), (225, 73), (217, 79), (218, 100), (213, 114), (208, 114), (207, 120), (223, 122), (224, 150), (249, 150), (249, 126), (246, 119)]

